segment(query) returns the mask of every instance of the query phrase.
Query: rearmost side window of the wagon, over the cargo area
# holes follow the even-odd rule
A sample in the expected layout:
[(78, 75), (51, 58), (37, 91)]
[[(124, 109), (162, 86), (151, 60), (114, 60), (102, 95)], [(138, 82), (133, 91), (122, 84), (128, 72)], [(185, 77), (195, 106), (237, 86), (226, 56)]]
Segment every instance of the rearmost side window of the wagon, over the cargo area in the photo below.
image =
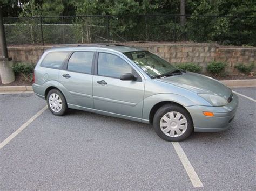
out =
[(41, 63), (41, 66), (58, 69), (70, 52), (49, 52)]

